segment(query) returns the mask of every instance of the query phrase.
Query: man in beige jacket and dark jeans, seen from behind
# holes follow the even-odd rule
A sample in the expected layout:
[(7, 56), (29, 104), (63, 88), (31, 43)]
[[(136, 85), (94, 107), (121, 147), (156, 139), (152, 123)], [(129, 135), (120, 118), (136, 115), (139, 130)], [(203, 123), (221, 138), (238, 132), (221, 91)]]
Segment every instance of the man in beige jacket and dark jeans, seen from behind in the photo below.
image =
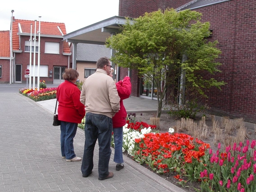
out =
[(99, 143), (99, 180), (113, 177), (108, 171), (111, 156), (112, 117), (120, 108), (120, 98), (116, 84), (108, 76), (111, 62), (102, 57), (96, 63), (96, 72), (89, 76), (82, 86), (80, 101), (85, 105), (85, 143), (81, 165), (83, 177), (88, 177), (93, 170), (93, 151), (98, 139)]

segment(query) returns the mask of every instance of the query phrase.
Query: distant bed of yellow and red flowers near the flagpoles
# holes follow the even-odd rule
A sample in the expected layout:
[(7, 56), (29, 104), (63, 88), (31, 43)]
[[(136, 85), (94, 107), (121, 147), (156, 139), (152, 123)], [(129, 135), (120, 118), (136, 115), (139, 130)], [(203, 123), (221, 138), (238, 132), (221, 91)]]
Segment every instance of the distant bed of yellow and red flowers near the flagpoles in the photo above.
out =
[(23, 89), (20, 89), (19, 93), (38, 102), (38, 101), (44, 101), (49, 99), (55, 99), (56, 92), (57, 92), (56, 90), (57, 90), (57, 87), (44, 88), (44, 89), (40, 88), (39, 90), (37, 88), (33, 90), (25, 87)]

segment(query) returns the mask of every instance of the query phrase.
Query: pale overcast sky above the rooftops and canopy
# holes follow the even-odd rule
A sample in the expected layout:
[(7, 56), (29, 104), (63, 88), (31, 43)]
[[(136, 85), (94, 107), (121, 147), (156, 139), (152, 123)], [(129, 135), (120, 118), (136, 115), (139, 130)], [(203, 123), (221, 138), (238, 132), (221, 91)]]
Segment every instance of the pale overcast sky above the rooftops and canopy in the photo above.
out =
[(118, 16), (119, 0), (4, 0), (0, 5), (0, 31), (10, 30), (16, 19), (65, 23), (67, 33)]

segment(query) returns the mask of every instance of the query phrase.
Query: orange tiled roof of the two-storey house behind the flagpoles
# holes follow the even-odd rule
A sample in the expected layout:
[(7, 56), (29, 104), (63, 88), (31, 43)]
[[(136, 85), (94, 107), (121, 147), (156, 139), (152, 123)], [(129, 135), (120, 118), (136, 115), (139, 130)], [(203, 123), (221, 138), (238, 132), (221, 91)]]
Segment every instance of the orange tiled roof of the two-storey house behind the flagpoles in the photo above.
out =
[[(32, 35), (33, 35), (35, 34), (35, 20), (20, 20), (20, 19), (15, 19), (15, 17), (13, 17), (13, 21), (12, 21), (13, 50), (19, 50), (20, 48), (19, 36), (17, 35), (17, 33), (20, 32), (20, 33), (30, 34), (31, 23), (32, 23)], [(39, 21), (36, 21), (36, 34), (38, 34), (38, 30), (39, 30)], [(41, 21), (40, 31), (41, 31), (40, 35), (63, 36), (67, 34), (65, 23), (52, 23), (52, 22)], [(67, 42), (63, 42), (63, 52), (70, 53), (69, 45)]]

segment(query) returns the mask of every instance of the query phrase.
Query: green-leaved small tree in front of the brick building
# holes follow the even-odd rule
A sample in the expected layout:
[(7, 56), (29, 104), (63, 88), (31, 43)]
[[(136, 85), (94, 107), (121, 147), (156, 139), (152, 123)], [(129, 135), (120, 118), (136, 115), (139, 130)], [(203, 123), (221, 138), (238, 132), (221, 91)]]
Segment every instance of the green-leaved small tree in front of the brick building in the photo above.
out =
[(217, 41), (207, 42), (210, 24), (200, 20), (201, 13), (195, 11), (158, 10), (127, 19), (121, 32), (106, 41), (107, 47), (116, 50), (111, 61), (135, 69), (140, 77), (153, 82), (157, 89), (157, 117), (161, 115), (163, 101), (168, 100), (166, 93), (180, 91), (182, 74), (186, 74), (183, 88), (193, 87), (189, 90), (203, 96), (207, 96), (205, 90), (210, 87), (220, 89), (224, 85), (223, 81), (205, 78), (209, 77), (205, 73), (220, 72), (220, 63), (215, 59), (221, 51), (216, 48)]

